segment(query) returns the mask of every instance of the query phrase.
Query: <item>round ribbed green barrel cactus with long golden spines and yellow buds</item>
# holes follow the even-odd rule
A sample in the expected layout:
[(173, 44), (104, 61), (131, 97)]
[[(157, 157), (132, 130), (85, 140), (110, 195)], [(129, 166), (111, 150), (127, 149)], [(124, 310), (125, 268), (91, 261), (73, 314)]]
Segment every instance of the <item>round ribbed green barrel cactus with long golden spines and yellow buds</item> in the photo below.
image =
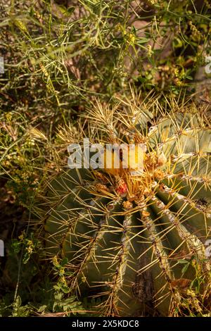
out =
[(207, 312), (210, 123), (193, 104), (166, 105), (135, 97), (111, 109), (97, 103), (79, 130), (61, 130), (68, 144), (84, 137), (103, 146), (143, 144), (143, 171), (132, 175), (132, 162), (68, 169), (48, 183), (37, 205), (46, 258), (68, 258), (70, 289), (100, 297), (103, 316)]

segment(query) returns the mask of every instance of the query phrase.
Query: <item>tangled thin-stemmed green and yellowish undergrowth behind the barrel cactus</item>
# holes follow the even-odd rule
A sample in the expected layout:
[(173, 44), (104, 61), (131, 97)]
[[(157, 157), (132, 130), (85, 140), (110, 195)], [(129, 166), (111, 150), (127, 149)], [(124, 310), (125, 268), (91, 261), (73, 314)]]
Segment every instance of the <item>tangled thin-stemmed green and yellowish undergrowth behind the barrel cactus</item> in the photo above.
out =
[(60, 276), (41, 262), (42, 243), (29, 226), (34, 194), (66, 163), (62, 128), (77, 125), (95, 98), (113, 104), (131, 86), (141, 99), (151, 92), (160, 104), (193, 96), (208, 113), (210, 9), (207, 0), (1, 1), (2, 315), (81, 307), (75, 299), (53, 305), (63, 296), (54, 289)]

